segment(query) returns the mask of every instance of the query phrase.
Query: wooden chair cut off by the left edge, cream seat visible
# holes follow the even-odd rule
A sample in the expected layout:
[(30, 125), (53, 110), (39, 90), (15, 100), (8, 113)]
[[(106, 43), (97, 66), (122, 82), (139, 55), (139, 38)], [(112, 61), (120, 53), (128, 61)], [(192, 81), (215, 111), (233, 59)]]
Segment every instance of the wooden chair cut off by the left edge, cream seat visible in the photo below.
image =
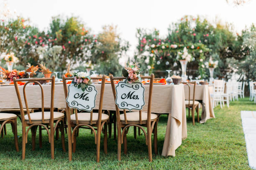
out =
[[(12, 126), (13, 134), (14, 134), (14, 142), (15, 142), (15, 148), (16, 151), (19, 151), (18, 147), (18, 135), (17, 135), (17, 115), (12, 113), (0, 113), (0, 133), (3, 135), (3, 131), (5, 130), (6, 135), (6, 129), (5, 125), (7, 123), (10, 123)], [(3, 136), (2, 136), (3, 137)]]

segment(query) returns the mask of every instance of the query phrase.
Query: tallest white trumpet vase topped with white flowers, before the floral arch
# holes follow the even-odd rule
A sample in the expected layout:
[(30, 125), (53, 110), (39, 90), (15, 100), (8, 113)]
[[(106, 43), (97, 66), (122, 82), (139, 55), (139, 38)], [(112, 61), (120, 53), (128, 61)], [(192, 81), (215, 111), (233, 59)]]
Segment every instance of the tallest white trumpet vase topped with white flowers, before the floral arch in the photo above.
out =
[(192, 60), (192, 55), (188, 53), (188, 50), (186, 47), (184, 47), (182, 52), (178, 52), (177, 60), (179, 60), (182, 66), (182, 79), (187, 80), (187, 74), (186, 74), (187, 62), (190, 62)]

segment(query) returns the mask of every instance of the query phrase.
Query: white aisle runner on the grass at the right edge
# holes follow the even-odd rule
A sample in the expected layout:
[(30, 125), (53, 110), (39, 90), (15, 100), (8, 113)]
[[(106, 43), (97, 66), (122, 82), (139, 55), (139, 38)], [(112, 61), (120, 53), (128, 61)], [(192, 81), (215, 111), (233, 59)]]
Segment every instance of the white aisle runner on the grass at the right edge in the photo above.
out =
[(256, 170), (256, 111), (241, 111), (248, 163)]

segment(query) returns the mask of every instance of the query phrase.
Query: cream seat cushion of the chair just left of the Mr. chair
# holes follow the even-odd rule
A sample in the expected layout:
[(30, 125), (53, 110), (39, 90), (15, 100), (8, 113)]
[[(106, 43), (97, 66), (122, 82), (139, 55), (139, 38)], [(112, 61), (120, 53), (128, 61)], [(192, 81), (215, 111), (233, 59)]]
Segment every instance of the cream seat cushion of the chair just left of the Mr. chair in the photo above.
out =
[[(44, 120), (50, 120), (51, 112), (44, 112)], [(54, 112), (54, 119), (63, 117), (64, 114), (61, 112)], [(31, 120), (42, 120), (42, 112), (30, 113)], [(25, 120), (28, 120), (28, 115), (25, 115)]]

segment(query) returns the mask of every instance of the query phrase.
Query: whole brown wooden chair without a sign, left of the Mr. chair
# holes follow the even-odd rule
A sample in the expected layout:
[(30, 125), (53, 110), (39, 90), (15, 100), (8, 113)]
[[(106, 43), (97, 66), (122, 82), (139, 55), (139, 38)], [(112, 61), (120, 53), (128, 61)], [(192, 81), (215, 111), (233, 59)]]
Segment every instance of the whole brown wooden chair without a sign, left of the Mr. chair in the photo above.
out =
[[(51, 107), (50, 112), (44, 112), (44, 90), (40, 82), (44, 82), (46, 80), (51, 80)], [(23, 97), (26, 105), (26, 115), (24, 114), (23, 104), (20, 97), (20, 91), (17, 84), (17, 81), (25, 81), (25, 85), (23, 86)], [(26, 79), (16, 79), (13, 78), (13, 82), (15, 85), (15, 90), (17, 93), (19, 105), (20, 105), (20, 115), (22, 121), (22, 159), (25, 159), (25, 150), (26, 143), (28, 142), (28, 132), (31, 129), (32, 134), (32, 150), (35, 150), (35, 140), (36, 140), (36, 130), (39, 126), (39, 147), (42, 147), (42, 134), (41, 129), (44, 127), (48, 133), (49, 143), (51, 143), (51, 159), (54, 159), (54, 132), (56, 128), (61, 127), (61, 139), (62, 139), (62, 149), (66, 152), (65, 149), (65, 140), (64, 140), (64, 114), (61, 112), (54, 112), (54, 85), (55, 85), (55, 77), (51, 78), (26, 78)], [(41, 103), (42, 103), (42, 111), (41, 112), (30, 112), (28, 109), (28, 102), (26, 97), (26, 86), (28, 83), (34, 82), (39, 85), (41, 88)], [(54, 125), (55, 123), (55, 125)], [(50, 131), (48, 126), (50, 126)], [(26, 130), (26, 127), (28, 129)]]

